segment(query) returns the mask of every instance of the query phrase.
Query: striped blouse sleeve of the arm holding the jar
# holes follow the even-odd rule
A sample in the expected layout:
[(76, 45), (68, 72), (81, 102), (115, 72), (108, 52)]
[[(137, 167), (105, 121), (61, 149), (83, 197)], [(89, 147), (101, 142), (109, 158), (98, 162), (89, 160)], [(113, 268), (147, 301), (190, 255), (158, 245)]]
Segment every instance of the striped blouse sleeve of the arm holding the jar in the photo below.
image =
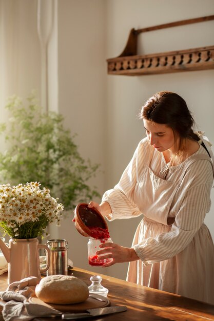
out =
[(171, 230), (134, 245), (135, 252), (145, 265), (177, 255), (201, 228), (205, 215), (210, 210), (213, 179), (210, 162), (199, 162), (194, 162), (189, 167), (180, 185), (177, 204), (179, 210)]

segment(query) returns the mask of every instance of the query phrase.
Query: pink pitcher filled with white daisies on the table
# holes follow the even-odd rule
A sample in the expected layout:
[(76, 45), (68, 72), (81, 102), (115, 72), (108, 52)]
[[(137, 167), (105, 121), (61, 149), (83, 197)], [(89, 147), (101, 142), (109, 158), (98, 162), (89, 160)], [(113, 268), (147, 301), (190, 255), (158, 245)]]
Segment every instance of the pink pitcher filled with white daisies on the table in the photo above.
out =
[[(0, 227), (10, 236), (9, 246), (0, 240), (0, 248), (8, 262), (8, 283), (29, 276), (41, 277), (50, 263), (50, 250), (38, 243), (38, 237), (49, 223), (60, 223), (63, 205), (40, 188), (37, 182), (25, 185), (0, 185)], [(38, 250), (47, 252), (47, 264), (40, 267)]]

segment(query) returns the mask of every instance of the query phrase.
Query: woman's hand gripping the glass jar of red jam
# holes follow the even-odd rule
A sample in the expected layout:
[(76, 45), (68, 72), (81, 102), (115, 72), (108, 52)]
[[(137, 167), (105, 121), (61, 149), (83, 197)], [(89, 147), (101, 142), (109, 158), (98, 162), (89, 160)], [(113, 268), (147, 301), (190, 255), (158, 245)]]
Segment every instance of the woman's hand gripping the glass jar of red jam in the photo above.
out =
[(102, 259), (112, 258), (111, 262), (104, 264), (102, 267), (109, 267), (115, 263), (131, 262), (139, 259), (133, 248), (125, 248), (115, 243), (104, 243), (99, 247), (103, 248), (103, 250), (97, 251), (97, 255), (102, 254)]

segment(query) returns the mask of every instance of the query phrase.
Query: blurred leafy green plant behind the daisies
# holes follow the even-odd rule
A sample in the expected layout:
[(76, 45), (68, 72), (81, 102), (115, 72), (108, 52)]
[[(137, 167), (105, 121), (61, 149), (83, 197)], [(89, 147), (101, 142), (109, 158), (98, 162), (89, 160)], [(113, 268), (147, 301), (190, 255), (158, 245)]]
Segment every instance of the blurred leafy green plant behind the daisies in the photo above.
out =
[(88, 185), (99, 165), (81, 157), (75, 135), (64, 129), (61, 114), (45, 113), (34, 94), (27, 98), (27, 104), (12, 96), (6, 108), (11, 117), (0, 127), (8, 147), (0, 153), (1, 183), (40, 182), (66, 210), (100, 196)]

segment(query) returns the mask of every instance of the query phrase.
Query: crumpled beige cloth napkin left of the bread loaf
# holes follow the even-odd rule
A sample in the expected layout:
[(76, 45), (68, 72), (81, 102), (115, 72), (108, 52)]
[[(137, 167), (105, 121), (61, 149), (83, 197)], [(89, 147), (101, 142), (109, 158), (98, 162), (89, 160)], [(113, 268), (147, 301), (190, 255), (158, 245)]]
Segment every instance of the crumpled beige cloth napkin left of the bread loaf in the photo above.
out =
[(2, 315), (5, 321), (32, 320), (35, 317), (61, 315), (62, 312), (40, 304), (29, 302), (29, 297), (35, 294), (35, 287), (40, 280), (35, 276), (11, 283), (7, 290), (0, 292), (0, 298), (5, 304)]

